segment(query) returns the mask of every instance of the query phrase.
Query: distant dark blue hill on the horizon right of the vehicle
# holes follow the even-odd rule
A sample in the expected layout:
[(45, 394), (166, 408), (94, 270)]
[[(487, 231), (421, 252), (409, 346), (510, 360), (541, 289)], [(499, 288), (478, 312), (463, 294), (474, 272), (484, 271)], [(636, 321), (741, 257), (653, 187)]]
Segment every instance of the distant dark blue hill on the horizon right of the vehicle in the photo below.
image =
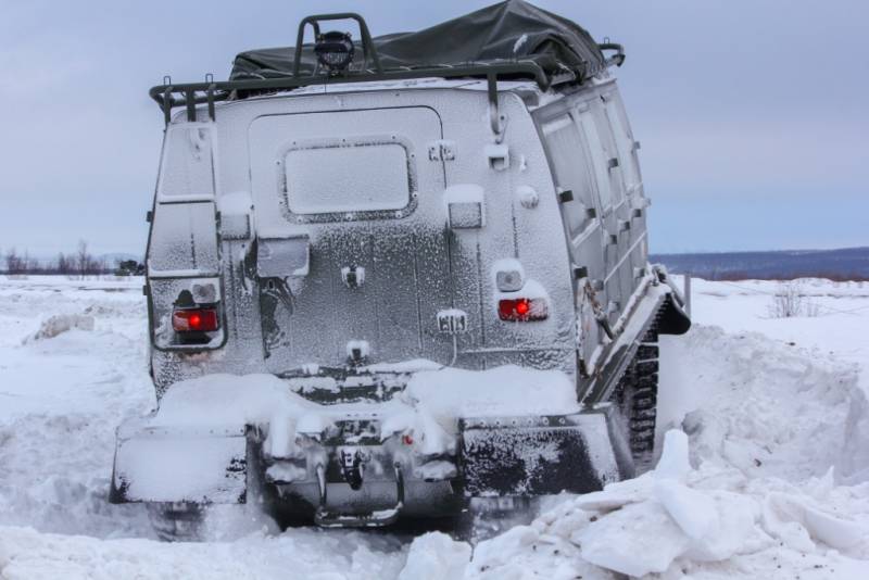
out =
[(707, 280), (804, 277), (869, 280), (869, 248), (652, 254), (650, 261), (664, 264), (672, 274), (691, 274)]

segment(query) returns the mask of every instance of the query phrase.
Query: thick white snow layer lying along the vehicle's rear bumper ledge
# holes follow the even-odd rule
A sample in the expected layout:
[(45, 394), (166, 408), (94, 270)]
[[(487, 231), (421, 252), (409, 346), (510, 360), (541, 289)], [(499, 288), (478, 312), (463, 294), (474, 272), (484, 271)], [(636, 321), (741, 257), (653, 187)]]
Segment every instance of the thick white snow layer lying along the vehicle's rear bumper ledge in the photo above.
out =
[[(274, 375), (207, 375), (173, 384), (161, 401), (160, 411), (148, 423), (235, 426), (265, 424), (277, 415), (302, 425), (316, 425), (323, 423), (322, 417), (366, 407), (378, 411), (386, 423), (402, 423), (401, 416), (408, 413), (455, 419), (579, 412), (574, 386), (558, 370), (507, 365), (475, 371), (433, 368), (434, 363), (416, 365), (424, 370), (415, 373), (392, 401), (328, 406), (290, 391), (287, 382)], [(386, 365), (371, 368), (388, 370)]]

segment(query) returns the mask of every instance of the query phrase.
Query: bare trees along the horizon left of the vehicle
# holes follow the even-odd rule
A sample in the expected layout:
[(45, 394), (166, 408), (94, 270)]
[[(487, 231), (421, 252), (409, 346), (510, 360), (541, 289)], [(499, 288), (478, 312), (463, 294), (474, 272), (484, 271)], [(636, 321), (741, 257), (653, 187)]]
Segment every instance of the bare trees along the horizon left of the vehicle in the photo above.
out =
[(105, 259), (99, 259), (90, 253), (88, 243), (84, 240), (78, 242), (75, 252), (59, 253), (58, 257), (49, 261), (39, 261), (25, 251), (18, 253), (11, 248), (2, 255), (0, 265), (3, 274), (27, 275), (27, 274), (61, 274), (66, 276), (96, 276), (100, 274), (116, 274), (130, 276), (140, 274), (142, 266), (135, 260), (118, 261), (109, 264)]

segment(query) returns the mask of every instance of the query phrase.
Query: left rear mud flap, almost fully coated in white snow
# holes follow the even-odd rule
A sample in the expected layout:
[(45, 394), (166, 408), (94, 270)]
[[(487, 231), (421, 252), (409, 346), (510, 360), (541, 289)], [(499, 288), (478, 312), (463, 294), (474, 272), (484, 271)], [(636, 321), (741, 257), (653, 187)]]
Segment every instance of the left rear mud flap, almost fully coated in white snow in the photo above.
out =
[(109, 501), (244, 503), (247, 449), (243, 427), (122, 426)]

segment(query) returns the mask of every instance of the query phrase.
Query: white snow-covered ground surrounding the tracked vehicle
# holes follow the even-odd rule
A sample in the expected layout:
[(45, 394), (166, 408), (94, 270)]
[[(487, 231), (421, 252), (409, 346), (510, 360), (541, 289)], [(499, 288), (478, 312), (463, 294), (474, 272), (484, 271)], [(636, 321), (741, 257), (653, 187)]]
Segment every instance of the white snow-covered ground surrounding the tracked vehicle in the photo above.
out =
[(806, 280), (816, 316), (778, 319), (777, 282), (695, 280), (695, 328), (662, 342), (659, 434), (688, 437), (473, 553), (235, 514), (163, 544), (109, 505), (114, 427), (153, 404), (140, 286), (0, 278), (0, 578), (869, 577), (869, 283)]

